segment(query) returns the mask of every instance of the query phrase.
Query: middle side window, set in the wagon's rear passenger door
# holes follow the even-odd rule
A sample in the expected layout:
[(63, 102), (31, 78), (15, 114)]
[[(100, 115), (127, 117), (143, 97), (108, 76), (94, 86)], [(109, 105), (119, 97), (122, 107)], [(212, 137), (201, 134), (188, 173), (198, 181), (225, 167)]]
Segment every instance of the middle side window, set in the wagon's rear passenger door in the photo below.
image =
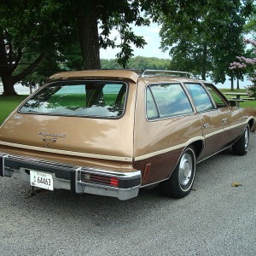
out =
[(214, 109), (211, 98), (207, 90), (201, 84), (185, 83), (189, 94), (192, 97), (195, 108), (198, 112), (205, 112)]

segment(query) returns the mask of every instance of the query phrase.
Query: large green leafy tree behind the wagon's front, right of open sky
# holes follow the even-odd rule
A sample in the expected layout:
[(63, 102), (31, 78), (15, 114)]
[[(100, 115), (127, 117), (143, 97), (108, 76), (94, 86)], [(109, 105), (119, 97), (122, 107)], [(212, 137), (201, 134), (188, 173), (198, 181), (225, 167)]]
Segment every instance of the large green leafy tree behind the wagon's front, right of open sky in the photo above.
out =
[(170, 50), (172, 67), (207, 74), (215, 82), (231, 75), (230, 60), (242, 53), (241, 34), (253, 1), (170, 1), (160, 22), (161, 47)]

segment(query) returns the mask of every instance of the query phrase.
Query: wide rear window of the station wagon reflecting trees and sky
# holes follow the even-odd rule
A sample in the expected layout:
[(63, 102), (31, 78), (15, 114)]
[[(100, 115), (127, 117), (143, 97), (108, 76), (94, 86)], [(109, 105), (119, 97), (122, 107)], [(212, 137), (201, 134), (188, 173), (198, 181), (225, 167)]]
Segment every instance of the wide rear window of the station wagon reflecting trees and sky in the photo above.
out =
[(124, 113), (127, 84), (109, 81), (55, 82), (39, 90), (20, 113), (118, 118)]

